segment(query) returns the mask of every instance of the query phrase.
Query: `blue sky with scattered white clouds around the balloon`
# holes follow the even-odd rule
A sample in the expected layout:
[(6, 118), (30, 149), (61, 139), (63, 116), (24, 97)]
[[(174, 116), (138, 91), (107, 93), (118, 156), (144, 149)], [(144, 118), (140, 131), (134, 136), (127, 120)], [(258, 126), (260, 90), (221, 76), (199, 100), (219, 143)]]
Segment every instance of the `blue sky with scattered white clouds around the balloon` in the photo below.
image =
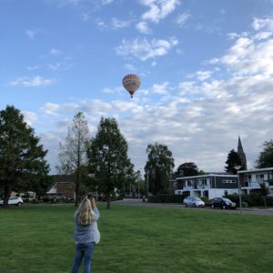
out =
[[(122, 78), (136, 74), (133, 98)], [(0, 109), (20, 109), (48, 150), (78, 112), (90, 136), (115, 117), (137, 169), (147, 145), (176, 168), (248, 168), (273, 138), (272, 0), (0, 0)]]

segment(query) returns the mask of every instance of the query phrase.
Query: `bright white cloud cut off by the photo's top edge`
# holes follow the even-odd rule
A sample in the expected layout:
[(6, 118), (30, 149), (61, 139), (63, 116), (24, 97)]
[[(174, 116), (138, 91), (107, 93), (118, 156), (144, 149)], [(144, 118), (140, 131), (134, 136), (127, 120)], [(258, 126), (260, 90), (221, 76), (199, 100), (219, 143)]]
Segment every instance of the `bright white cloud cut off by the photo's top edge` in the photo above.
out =
[(143, 20), (158, 23), (171, 14), (180, 4), (180, 0), (140, 0), (140, 4), (146, 5), (149, 10), (142, 15)]

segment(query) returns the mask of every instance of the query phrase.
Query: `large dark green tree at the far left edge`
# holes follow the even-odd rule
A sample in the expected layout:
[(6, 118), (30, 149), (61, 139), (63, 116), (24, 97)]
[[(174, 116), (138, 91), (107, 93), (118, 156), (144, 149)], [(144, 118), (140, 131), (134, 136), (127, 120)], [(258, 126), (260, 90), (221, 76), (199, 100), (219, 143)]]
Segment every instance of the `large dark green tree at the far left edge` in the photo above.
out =
[(12, 189), (43, 187), (49, 166), (45, 161), (47, 150), (39, 141), (15, 106), (0, 111), (0, 187), (4, 188), (4, 207)]

